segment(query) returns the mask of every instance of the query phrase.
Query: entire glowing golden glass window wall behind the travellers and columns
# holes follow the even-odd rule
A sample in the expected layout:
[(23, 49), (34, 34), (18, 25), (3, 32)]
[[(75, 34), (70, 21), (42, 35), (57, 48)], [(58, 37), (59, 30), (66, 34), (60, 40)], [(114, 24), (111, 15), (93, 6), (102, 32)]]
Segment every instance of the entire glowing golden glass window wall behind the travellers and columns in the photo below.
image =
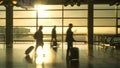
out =
[[(36, 9), (24, 9), (20, 7), (14, 7), (13, 11), (13, 34), (14, 40), (33, 40), (32, 35), (36, 31), (36, 25), (43, 25), (45, 37), (50, 38), (51, 29), (54, 25), (57, 26), (59, 30), (58, 35), (61, 40), (62, 34), (66, 34), (69, 23), (73, 23), (73, 31), (75, 37), (80, 37), (81, 35), (87, 35), (87, 14), (88, 5), (74, 6), (70, 5), (67, 7), (62, 7), (62, 5), (47, 5), (44, 13), (38, 13), (38, 18), (36, 18)], [(2, 8), (1, 8), (2, 7)], [(58, 8), (59, 7), (59, 8)], [(5, 28), (5, 7), (0, 6), (0, 27)], [(120, 6), (119, 10), (120, 11)], [(48, 13), (48, 14), (47, 14)], [(105, 14), (103, 14), (105, 13)], [(22, 14), (22, 15), (21, 15)], [(46, 15), (45, 15), (46, 14)], [(1, 16), (2, 15), (2, 16)], [(120, 17), (120, 13), (118, 13)], [(120, 22), (120, 20), (118, 20)], [(119, 23), (118, 23), (119, 24)], [(109, 6), (106, 4), (94, 5), (94, 33), (99, 34), (102, 30), (103, 34), (116, 31), (116, 15), (115, 6)], [(63, 26), (63, 27), (62, 27)], [(104, 28), (105, 27), (105, 28)], [(47, 31), (47, 29), (50, 29)], [(107, 31), (111, 30), (111, 31)], [(100, 32), (98, 32), (100, 31)], [(3, 32), (1, 32), (3, 33)], [(22, 38), (20, 38), (22, 36)], [(64, 36), (65, 38), (65, 36)]]

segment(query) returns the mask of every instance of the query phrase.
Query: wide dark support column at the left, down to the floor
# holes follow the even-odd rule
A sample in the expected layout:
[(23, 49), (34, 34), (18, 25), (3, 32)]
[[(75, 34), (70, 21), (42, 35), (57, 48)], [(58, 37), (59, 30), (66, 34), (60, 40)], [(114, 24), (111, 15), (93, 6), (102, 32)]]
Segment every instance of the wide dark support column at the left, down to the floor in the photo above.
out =
[(6, 48), (13, 47), (13, 5), (11, 0), (6, 1)]

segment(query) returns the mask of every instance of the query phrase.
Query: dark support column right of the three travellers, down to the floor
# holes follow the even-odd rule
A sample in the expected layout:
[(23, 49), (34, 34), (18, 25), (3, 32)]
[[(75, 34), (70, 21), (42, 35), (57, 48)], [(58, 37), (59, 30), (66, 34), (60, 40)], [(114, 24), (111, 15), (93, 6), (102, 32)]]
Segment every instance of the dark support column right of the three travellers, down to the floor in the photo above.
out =
[(88, 45), (93, 45), (93, 0), (88, 0)]

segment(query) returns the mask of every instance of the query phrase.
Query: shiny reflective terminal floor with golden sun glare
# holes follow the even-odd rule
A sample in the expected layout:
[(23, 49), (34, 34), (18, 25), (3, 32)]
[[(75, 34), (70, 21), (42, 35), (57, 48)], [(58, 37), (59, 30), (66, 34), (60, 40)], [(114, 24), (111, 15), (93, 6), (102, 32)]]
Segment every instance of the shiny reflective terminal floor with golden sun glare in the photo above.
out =
[(13, 49), (0, 44), (0, 68), (120, 68), (120, 50), (108, 44), (88, 49), (87, 44), (74, 43), (79, 48), (78, 61), (66, 60), (66, 43), (50, 47), (46, 42), (43, 49), (38, 47), (36, 52), (25, 55), (29, 46), (35, 43), (15, 43)]

